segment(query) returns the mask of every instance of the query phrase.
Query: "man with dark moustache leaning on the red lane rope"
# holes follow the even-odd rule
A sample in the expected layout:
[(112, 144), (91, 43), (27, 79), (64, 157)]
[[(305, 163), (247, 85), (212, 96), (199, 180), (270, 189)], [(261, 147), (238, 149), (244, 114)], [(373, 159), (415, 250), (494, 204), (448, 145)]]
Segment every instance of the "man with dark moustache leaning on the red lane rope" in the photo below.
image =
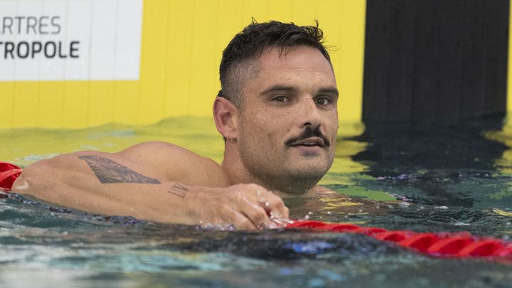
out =
[(316, 184), (334, 160), (338, 90), (316, 26), (251, 23), (223, 52), (213, 118), (223, 162), (173, 144), (117, 153), (78, 151), (24, 169), (13, 191), (103, 215), (188, 225), (274, 228), (290, 195)]

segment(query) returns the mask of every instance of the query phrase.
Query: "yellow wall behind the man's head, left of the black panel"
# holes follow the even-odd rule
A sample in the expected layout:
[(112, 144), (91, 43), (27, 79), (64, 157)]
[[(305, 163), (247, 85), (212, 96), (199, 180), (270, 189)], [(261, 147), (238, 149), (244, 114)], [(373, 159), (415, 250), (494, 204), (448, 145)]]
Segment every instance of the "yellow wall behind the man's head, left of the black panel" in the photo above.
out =
[(364, 0), (146, 0), (139, 80), (0, 82), (0, 128), (82, 128), (210, 117), (220, 89), (222, 51), (251, 17), (299, 25), (319, 20), (326, 45), (334, 48), (340, 122), (358, 122), (365, 13)]

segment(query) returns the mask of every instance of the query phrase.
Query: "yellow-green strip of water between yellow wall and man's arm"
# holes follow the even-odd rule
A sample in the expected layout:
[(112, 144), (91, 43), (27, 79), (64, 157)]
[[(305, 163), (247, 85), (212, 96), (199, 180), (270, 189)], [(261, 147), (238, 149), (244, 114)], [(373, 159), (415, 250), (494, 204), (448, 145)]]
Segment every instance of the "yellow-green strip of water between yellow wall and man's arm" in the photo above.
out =
[(147, 141), (171, 142), (222, 161), (223, 139), (209, 118), (179, 117), (151, 126), (109, 124), (89, 129), (1, 130), (0, 159), (26, 166), (39, 159), (79, 150), (121, 151)]

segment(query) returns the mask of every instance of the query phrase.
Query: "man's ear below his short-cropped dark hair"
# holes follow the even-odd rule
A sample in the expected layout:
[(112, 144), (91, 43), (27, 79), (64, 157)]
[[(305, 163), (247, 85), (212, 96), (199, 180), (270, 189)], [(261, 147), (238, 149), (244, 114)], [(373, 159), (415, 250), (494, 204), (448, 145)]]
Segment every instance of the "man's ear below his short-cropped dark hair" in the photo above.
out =
[(225, 139), (238, 138), (238, 108), (224, 97), (216, 97), (213, 102), (213, 119), (217, 130)]

